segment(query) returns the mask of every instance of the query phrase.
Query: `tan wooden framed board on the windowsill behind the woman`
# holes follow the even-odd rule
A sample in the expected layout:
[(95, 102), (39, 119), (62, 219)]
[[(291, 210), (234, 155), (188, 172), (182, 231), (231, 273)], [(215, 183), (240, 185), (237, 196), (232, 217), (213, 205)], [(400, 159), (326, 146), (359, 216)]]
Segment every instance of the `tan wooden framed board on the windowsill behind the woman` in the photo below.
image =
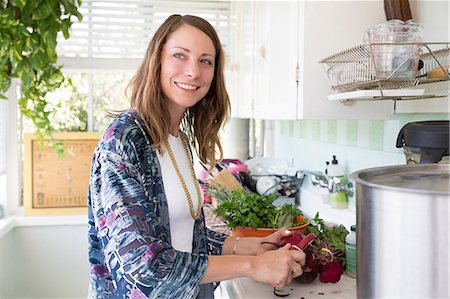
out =
[(87, 190), (92, 155), (101, 133), (55, 133), (63, 141), (65, 155), (42, 144), (32, 134), (24, 140), (25, 215), (68, 215), (87, 213)]

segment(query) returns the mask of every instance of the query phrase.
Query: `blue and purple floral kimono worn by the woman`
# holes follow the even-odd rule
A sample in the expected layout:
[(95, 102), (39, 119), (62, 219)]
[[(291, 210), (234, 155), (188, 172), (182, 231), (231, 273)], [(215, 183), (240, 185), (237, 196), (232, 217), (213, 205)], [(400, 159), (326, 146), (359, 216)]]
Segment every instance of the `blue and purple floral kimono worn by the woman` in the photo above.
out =
[(195, 221), (192, 253), (172, 248), (156, 150), (135, 110), (116, 118), (93, 156), (88, 190), (90, 298), (213, 298), (200, 285), (225, 235)]

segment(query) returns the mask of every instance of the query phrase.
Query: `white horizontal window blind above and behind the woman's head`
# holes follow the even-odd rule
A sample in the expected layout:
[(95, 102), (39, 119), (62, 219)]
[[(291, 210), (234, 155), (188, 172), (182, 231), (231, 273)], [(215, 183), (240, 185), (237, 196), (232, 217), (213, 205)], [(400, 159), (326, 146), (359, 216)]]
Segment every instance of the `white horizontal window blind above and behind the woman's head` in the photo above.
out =
[[(171, 14), (192, 14), (208, 20), (228, 51), (230, 1), (83, 0), (71, 35), (58, 37), (64, 58), (141, 59), (156, 29)], [(79, 60), (79, 59), (78, 59)]]

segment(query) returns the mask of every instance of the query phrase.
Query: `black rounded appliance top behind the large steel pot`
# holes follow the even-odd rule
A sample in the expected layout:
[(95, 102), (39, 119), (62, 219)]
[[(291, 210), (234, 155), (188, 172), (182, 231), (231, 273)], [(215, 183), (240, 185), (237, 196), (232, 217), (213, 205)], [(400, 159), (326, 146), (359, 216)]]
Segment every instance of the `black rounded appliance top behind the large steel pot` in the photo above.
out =
[(450, 121), (431, 120), (408, 123), (397, 136), (396, 147), (448, 149)]

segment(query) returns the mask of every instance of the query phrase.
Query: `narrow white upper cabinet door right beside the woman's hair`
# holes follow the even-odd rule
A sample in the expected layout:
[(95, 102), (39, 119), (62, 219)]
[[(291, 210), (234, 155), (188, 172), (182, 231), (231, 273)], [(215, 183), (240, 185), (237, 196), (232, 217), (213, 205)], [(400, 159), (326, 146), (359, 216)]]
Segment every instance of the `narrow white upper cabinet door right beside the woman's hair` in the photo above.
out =
[(231, 116), (253, 117), (253, 2), (231, 2), (231, 51), (227, 90), (231, 101)]

